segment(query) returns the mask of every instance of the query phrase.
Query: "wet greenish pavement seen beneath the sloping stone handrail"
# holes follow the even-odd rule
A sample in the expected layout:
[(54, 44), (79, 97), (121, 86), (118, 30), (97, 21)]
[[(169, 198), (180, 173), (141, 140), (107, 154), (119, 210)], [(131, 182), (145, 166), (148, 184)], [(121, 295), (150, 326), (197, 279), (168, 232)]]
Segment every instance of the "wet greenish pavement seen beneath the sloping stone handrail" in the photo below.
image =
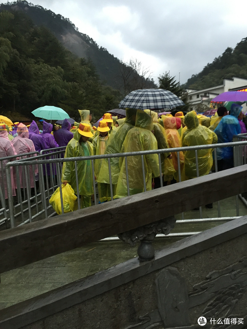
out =
[[(236, 197), (220, 201), (221, 217), (236, 216)], [(99, 205), (100, 206), (100, 205)], [(239, 200), (239, 216), (247, 215), (246, 206)], [(202, 207), (204, 223), (177, 223), (172, 233), (199, 232), (222, 224), (222, 221), (207, 221), (206, 218), (218, 217), (217, 203), (212, 209)], [(176, 215), (176, 219), (181, 219)], [(200, 218), (199, 211), (184, 213), (185, 219)], [(155, 250), (164, 248), (182, 238), (156, 238)], [(1, 274), (0, 309), (58, 288), (72, 281), (92, 275), (103, 269), (123, 263), (137, 256), (138, 243), (131, 247), (122, 241), (101, 241), (89, 243)]]

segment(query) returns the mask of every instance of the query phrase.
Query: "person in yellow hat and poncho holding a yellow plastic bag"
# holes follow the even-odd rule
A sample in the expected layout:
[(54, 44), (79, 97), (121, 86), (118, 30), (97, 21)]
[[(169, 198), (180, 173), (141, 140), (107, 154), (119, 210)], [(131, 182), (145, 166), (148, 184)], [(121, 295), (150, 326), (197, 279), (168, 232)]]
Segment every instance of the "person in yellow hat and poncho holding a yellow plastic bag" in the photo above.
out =
[[(74, 137), (69, 141), (66, 147), (64, 157), (73, 158), (93, 155), (93, 145), (88, 141), (90, 137), (93, 137), (92, 135), (90, 125), (87, 123), (80, 123), (78, 129), (74, 133)], [(90, 207), (91, 196), (94, 193), (91, 160), (77, 161), (77, 174), (81, 208)], [(69, 183), (77, 195), (75, 163), (73, 161), (63, 163), (61, 180), (63, 184)]]

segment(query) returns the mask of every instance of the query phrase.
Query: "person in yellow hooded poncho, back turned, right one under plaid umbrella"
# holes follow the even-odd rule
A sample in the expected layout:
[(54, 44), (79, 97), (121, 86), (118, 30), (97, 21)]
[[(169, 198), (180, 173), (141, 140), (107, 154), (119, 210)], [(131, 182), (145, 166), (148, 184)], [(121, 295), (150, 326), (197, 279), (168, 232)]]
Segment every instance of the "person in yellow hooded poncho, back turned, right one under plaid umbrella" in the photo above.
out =
[[(138, 152), (157, 149), (157, 141), (151, 132), (153, 120), (150, 115), (137, 110), (136, 123), (133, 129), (127, 133), (121, 152)], [(121, 166), (114, 199), (123, 198), (128, 195), (126, 167), (124, 158), (119, 159)], [(142, 158), (140, 155), (127, 157), (129, 194), (137, 194), (144, 191)], [(159, 160), (157, 154), (144, 156), (144, 171), (146, 189), (152, 189), (152, 173), (154, 177), (159, 176)]]

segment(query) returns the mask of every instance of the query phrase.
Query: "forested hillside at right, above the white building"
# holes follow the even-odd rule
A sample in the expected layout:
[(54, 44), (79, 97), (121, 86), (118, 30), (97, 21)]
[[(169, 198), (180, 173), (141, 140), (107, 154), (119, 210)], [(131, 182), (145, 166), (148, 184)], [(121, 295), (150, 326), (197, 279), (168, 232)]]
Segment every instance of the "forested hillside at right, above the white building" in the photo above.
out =
[(224, 78), (231, 79), (233, 76), (247, 79), (247, 38), (237, 43), (234, 49), (228, 47), (200, 73), (193, 74), (184, 87), (206, 89), (221, 85)]

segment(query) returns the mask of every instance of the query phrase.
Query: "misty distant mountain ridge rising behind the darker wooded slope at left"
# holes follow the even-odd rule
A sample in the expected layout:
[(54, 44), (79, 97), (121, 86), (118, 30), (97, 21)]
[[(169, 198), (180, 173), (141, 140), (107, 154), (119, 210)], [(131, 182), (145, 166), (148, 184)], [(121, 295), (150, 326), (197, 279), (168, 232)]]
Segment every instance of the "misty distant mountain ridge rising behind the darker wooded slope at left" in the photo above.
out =
[[(96, 72), (102, 83), (119, 89), (123, 92), (123, 72), (126, 74), (126, 65), (118, 58), (109, 54), (107, 49), (99, 47), (88, 35), (78, 31), (78, 28), (68, 19), (60, 14), (41, 6), (33, 5), (27, 1), (8, 2), (0, 5), (0, 11), (22, 11), (37, 26), (49, 29), (55, 37), (73, 54), (78, 57), (90, 59), (96, 66)], [(140, 77), (141, 78), (141, 77)], [(152, 80), (145, 81), (147, 88), (155, 88)], [(130, 89), (138, 89), (131, 86)], [(128, 90), (128, 92), (131, 90)]]

